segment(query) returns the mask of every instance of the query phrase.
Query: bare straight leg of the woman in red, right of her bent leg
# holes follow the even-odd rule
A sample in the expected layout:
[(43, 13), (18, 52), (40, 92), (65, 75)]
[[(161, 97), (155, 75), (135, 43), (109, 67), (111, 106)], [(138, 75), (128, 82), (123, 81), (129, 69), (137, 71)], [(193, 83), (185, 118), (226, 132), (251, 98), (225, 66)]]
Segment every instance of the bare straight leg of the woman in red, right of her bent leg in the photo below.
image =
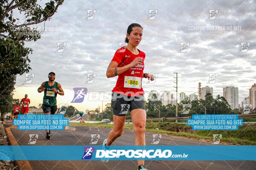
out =
[[(146, 145), (145, 142), (145, 125), (146, 111), (144, 109), (134, 109), (131, 111), (131, 118), (135, 133), (135, 145)], [(138, 166), (144, 165), (144, 160), (138, 160)]]

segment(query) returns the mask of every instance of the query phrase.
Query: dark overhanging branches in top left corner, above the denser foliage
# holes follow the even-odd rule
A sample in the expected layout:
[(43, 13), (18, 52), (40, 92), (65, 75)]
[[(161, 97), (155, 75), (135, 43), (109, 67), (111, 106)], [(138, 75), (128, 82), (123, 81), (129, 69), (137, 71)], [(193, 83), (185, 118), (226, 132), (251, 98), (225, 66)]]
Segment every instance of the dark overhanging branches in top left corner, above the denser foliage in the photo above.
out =
[[(40, 39), (41, 31), (29, 26), (51, 19), (64, 0), (50, 0), (41, 7), (37, 0), (1, 0), (0, 1), (0, 36), (15, 41)], [(18, 10), (26, 16), (20, 20), (13, 15)], [(22, 23), (23, 22), (23, 23)]]

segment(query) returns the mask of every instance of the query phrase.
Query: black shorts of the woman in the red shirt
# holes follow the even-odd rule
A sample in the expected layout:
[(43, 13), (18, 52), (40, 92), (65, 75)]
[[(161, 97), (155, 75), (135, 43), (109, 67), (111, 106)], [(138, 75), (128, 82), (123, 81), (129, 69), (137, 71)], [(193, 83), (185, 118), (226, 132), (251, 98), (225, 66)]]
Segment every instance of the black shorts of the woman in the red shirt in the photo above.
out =
[(112, 92), (111, 107), (113, 108), (113, 114), (116, 116), (125, 116), (128, 112), (134, 109), (144, 109), (145, 102), (144, 96), (126, 96)]

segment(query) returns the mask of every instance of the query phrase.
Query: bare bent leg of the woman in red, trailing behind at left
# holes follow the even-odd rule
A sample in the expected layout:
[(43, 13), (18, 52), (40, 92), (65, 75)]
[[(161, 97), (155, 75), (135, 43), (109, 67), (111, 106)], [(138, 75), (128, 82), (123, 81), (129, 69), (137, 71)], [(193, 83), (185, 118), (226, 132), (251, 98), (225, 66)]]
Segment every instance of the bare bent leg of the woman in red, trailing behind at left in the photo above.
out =
[(108, 142), (106, 143), (106, 145), (111, 145), (116, 140), (116, 138), (122, 135), (124, 131), (124, 126), (125, 126), (125, 118), (126, 118), (126, 115), (125, 116), (113, 115), (114, 127), (108, 134)]

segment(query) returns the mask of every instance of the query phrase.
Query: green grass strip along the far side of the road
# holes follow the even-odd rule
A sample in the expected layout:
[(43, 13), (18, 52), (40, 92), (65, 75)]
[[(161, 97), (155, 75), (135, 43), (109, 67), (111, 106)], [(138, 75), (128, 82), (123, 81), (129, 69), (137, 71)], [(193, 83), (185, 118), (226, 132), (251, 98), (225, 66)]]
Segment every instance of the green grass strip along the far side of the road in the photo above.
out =
[[(113, 124), (100, 123), (70, 123), (71, 126), (109, 127)], [(133, 129), (132, 124), (125, 124), (125, 129)], [(193, 133), (175, 132), (175, 129), (191, 130), (191, 126), (171, 122), (146, 123), (146, 130), (154, 133), (185, 137), (188, 139), (204, 139), (212, 142), (213, 134), (221, 134), (221, 142), (236, 145), (256, 145), (256, 125), (239, 126), (239, 130), (194, 130)], [(221, 144), (220, 142), (220, 144)]]

